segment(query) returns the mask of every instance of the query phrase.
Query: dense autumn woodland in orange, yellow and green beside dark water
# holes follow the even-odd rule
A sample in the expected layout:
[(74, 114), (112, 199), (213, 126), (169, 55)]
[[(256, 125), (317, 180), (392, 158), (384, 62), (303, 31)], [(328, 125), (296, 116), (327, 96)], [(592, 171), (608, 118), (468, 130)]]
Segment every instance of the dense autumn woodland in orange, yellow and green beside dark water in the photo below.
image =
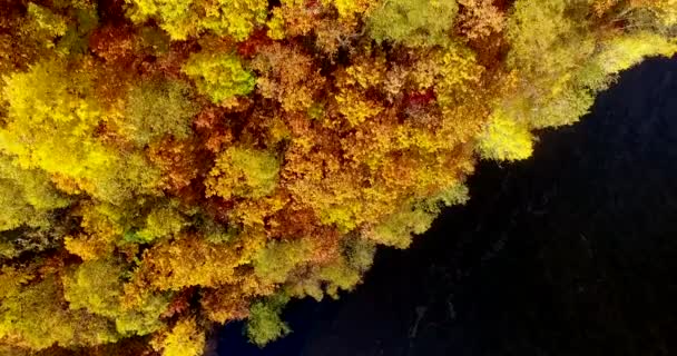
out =
[(263, 346), (675, 52), (677, 0), (0, 0), (0, 355)]

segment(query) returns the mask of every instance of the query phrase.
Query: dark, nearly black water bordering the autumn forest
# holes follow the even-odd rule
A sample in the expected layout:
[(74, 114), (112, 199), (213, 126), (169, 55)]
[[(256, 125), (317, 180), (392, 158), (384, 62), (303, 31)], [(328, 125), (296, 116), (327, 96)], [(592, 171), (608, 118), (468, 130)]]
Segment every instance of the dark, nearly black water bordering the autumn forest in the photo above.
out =
[(294, 334), (259, 350), (229, 325), (218, 355), (677, 355), (677, 59), (469, 185), (354, 293), (293, 303)]

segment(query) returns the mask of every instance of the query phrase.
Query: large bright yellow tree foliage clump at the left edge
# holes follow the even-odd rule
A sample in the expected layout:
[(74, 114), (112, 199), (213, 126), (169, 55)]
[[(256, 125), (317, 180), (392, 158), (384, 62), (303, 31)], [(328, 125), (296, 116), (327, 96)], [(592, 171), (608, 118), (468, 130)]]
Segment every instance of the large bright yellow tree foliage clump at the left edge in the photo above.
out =
[(59, 177), (72, 187), (69, 192), (116, 202), (148, 192), (157, 177), (145, 158), (134, 152), (122, 158), (96, 138), (106, 117), (85, 69), (69, 72), (65, 62), (47, 61), (7, 78), (0, 149), (16, 156), (21, 168)]

